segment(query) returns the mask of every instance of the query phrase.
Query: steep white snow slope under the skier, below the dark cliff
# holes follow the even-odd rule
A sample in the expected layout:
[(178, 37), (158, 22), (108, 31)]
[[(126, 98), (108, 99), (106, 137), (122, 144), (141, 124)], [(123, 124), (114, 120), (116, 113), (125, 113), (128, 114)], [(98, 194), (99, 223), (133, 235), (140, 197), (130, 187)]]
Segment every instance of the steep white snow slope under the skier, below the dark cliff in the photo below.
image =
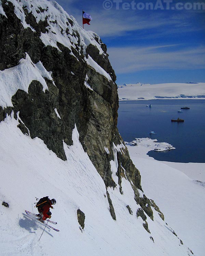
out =
[[(136, 217), (138, 206), (134, 201), (133, 190), (125, 178), (122, 178), (123, 195), (120, 194), (119, 187), (109, 189), (117, 220), (111, 218), (105, 197), (105, 184), (84, 153), (76, 128), (73, 130), (73, 145), (64, 144), (68, 160), (63, 161), (47, 149), (39, 138), (31, 139), (24, 135), (17, 125), (18, 121), (13, 116), (7, 116), (0, 123), (0, 202), (9, 203), (9, 208), (0, 204), (1, 255), (191, 255), (186, 247), (190, 246), (191, 249), (191, 245), (182, 245), (179, 238), (184, 238), (178, 238), (172, 233), (167, 220), (169, 214), (166, 217), (166, 225), (154, 211), (154, 221), (147, 217), (151, 234), (143, 228), (141, 217)], [(112, 170), (115, 179), (117, 159), (114, 163)], [(171, 185), (168, 174), (174, 169), (168, 170), (166, 182), (164, 180), (164, 186), (167, 187)], [(177, 172), (177, 175), (180, 177), (181, 192), (185, 196), (187, 177), (180, 172)], [(167, 191), (165, 197), (155, 197), (156, 192), (151, 193), (147, 188), (150, 183), (152, 180), (148, 178), (144, 180), (143, 186), (149, 195), (163, 206), (164, 211), (176, 207), (172, 204), (173, 194)], [(190, 179), (189, 183), (192, 184)], [(184, 200), (188, 200), (190, 194), (195, 194), (195, 197), (198, 195), (199, 186), (193, 186), (195, 191), (191, 187)], [(161, 188), (158, 187), (159, 189)], [(24, 210), (37, 212), (33, 204), (35, 196), (46, 195), (56, 198), (52, 219), (58, 222), (55, 227), (60, 232), (46, 227), (41, 240), (38, 241), (44, 225), (31, 220)], [(171, 200), (171, 204), (164, 205), (161, 200)], [(127, 205), (131, 207), (133, 215), (128, 213)], [(192, 200), (187, 206), (188, 209), (191, 206)], [(78, 208), (85, 213), (83, 232), (77, 220)], [(175, 221), (178, 220), (177, 215), (173, 219), (170, 219), (173, 226), (180, 224)], [(181, 234), (180, 229), (175, 231)], [(153, 237), (154, 243), (150, 236)]]

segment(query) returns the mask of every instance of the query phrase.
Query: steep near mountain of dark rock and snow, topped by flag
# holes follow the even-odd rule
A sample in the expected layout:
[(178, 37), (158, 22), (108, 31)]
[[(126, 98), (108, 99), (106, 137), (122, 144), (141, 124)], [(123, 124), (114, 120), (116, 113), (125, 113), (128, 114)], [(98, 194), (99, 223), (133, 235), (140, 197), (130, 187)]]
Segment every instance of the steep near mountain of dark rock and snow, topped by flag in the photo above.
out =
[[(99, 36), (55, 1), (0, 0), (0, 49), (1, 255), (202, 256), (204, 208), (195, 199), (203, 202), (204, 187), (155, 163), (143, 190), (117, 129), (116, 76)], [(177, 203), (164, 188), (175, 186), (172, 172)], [(35, 197), (47, 195), (60, 231), (46, 227), (39, 241), (45, 226), (24, 210), (37, 213)], [(193, 218), (183, 212), (191, 207)], [(194, 232), (177, 228), (184, 216)]]

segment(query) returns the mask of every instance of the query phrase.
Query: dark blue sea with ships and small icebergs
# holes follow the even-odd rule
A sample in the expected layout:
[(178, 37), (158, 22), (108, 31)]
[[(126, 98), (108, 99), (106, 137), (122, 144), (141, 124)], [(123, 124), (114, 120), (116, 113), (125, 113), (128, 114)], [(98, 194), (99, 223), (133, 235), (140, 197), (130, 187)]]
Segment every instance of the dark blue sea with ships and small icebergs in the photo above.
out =
[[(147, 107), (151, 104), (152, 107)], [(187, 106), (190, 109), (181, 109)], [(171, 119), (184, 122), (171, 122)], [(176, 149), (149, 156), (169, 162), (205, 162), (205, 100), (132, 100), (120, 101), (118, 129), (124, 141), (150, 137), (167, 142)], [(149, 134), (154, 131), (156, 134)]]

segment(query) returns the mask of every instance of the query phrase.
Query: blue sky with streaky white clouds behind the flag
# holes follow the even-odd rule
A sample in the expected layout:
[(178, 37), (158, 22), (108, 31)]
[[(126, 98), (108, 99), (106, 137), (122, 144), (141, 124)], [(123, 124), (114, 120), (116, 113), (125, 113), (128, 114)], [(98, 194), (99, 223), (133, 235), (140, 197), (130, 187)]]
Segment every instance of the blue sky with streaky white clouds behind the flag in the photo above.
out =
[[(107, 45), (117, 84), (205, 82), (205, 1), (56, 0)], [(200, 4), (198, 4), (200, 3)]]

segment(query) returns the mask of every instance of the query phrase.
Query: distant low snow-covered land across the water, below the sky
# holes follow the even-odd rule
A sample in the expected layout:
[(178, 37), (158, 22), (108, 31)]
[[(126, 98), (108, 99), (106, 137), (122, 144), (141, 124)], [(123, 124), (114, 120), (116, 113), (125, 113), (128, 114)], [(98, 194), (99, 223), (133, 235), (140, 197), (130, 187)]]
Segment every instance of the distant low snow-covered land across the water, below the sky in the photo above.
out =
[(124, 84), (118, 86), (120, 100), (204, 99), (205, 83)]

